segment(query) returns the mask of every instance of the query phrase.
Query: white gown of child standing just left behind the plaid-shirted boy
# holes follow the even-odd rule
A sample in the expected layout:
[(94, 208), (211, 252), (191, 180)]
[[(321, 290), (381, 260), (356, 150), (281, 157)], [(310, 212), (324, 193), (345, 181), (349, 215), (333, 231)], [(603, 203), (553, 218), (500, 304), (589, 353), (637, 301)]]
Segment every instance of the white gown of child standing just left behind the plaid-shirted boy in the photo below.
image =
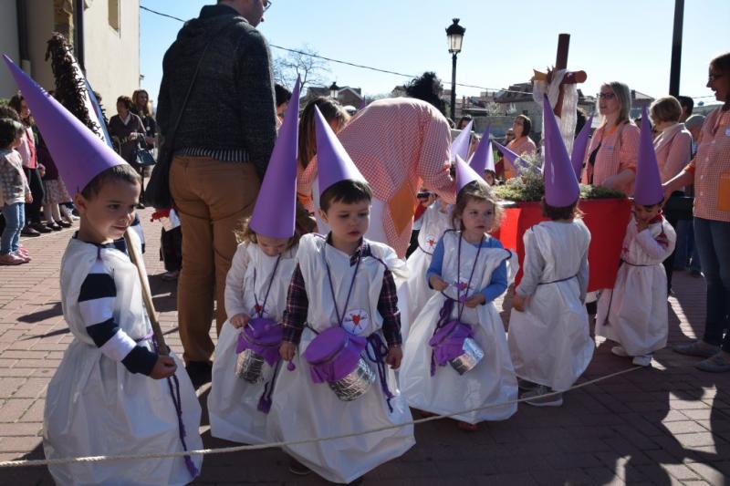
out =
[[(257, 244), (239, 244), (225, 281), (225, 312), (229, 318), (237, 314), (256, 316), (258, 300), (258, 305), (265, 307), (264, 317), (281, 322), (296, 254), (296, 247), (282, 253), (272, 281), (277, 257), (267, 256)], [(269, 284), (271, 290), (264, 305)], [(235, 442), (259, 444), (268, 441), (269, 437), (266, 433), (268, 415), (258, 410), (258, 401), (264, 394), (266, 384), (271, 387), (275, 368), (265, 364), (263, 379), (258, 383), (249, 383), (236, 377), (235, 362), (238, 355), (235, 348), (240, 333), (241, 329), (225, 321), (215, 346), (213, 381), (208, 396), (211, 435)]]

